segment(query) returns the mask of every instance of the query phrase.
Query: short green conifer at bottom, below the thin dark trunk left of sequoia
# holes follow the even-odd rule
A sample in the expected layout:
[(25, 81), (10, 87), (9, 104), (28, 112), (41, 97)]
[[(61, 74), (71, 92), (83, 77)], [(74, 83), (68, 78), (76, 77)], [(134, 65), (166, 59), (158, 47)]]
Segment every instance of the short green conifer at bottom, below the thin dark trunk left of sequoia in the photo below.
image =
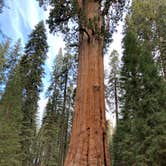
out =
[(38, 135), (37, 163), (43, 166), (58, 166), (59, 140), (58, 127), (59, 118), (55, 111), (52, 111), (50, 101), (47, 104), (47, 113)]

